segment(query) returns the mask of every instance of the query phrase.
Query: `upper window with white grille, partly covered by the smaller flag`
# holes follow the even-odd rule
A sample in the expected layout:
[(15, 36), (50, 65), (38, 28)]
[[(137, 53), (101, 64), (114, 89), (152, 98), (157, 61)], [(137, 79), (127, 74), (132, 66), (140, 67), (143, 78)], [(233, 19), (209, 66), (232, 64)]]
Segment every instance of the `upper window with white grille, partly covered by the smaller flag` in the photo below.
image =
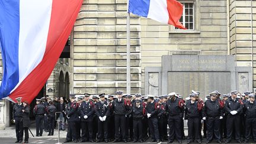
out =
[[(180, 18), (180, 23), (184, 25), (187, 30), (194, 30), (194, 3), (181, 2), (183, 4), (183, 15)], [(175, 29), (180, 29), (175, 27)]]

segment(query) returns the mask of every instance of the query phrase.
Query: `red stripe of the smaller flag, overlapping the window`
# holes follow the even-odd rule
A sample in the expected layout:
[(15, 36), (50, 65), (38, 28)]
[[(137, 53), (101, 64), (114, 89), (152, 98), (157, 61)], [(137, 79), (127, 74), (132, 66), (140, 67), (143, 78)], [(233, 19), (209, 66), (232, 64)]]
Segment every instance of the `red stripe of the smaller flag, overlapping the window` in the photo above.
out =
[(183, 14), (183, 5), (175, 0), (167, 0), (167, 10), (169, 14), (168, 24), (174, 25), (181, 29), (187, 29), (180, 23), (181, 15)]

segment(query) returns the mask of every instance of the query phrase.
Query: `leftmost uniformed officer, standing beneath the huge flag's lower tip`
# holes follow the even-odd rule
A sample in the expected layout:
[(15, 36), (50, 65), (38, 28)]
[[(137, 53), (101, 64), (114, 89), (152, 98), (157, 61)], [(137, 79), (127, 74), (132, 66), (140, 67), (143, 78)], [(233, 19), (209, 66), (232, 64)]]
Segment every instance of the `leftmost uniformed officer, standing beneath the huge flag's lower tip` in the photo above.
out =
[(23, 141), (23, 104), (21, 103), (21, 97), (16, 98), (17, 103), (12, 109), (12, 119), (15, 122), (15, 132), (17, 140), (15, 143), (22, 143)]

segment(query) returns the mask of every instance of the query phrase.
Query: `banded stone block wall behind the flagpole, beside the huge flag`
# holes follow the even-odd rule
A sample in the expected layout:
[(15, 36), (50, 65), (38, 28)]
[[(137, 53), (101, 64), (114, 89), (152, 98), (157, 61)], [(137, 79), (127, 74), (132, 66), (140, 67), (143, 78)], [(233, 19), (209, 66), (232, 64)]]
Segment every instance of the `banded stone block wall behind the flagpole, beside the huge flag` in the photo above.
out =
[[(73, 92), (126, 92), (126, 0), (84, 0), (73, 28)], [(140, 19), (131, 23), (131, 93), (140, 92)]]

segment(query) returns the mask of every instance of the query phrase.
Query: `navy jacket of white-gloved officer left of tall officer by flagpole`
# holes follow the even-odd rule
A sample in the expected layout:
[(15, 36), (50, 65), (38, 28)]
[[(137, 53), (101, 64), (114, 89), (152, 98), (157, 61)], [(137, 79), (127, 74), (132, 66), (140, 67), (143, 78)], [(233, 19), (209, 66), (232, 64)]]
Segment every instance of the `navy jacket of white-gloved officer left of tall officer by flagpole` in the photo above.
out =
[(110, 116), (110, 107), (107, 101), (99, 101), (95, 104), (95, 113), (98, 117)]

